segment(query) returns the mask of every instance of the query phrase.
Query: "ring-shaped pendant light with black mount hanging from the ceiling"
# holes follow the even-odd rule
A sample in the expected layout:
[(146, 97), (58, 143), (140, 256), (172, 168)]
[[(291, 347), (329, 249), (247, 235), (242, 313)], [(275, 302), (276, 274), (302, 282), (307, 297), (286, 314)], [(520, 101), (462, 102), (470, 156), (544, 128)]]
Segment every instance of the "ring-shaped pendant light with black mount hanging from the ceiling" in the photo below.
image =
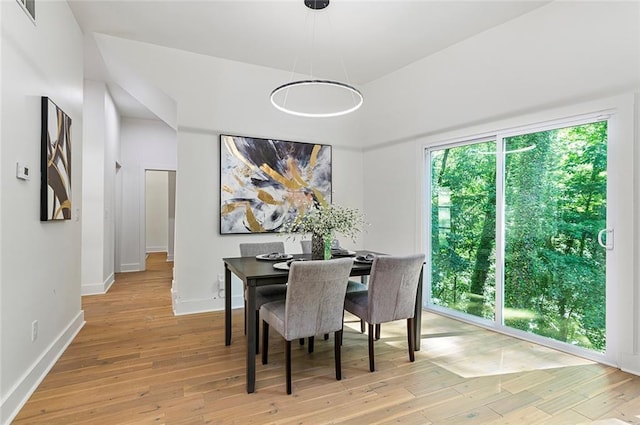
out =
[[(329, 0), (304, 0), (304, 5), (311, 10), (322, 10), (329, 6)], [(346, 74), (344, 63), (342, 67)], [(294, 73), (295, 65), (291, 74)], [(308, 79), (291, 81), (276, 87), (271, 92), (270, 100), (276, 109), (287, 114), (327, 118), (357, 110), (362, 106), (364, 98), (351, 84), (318, 79), (311, 75)]]

